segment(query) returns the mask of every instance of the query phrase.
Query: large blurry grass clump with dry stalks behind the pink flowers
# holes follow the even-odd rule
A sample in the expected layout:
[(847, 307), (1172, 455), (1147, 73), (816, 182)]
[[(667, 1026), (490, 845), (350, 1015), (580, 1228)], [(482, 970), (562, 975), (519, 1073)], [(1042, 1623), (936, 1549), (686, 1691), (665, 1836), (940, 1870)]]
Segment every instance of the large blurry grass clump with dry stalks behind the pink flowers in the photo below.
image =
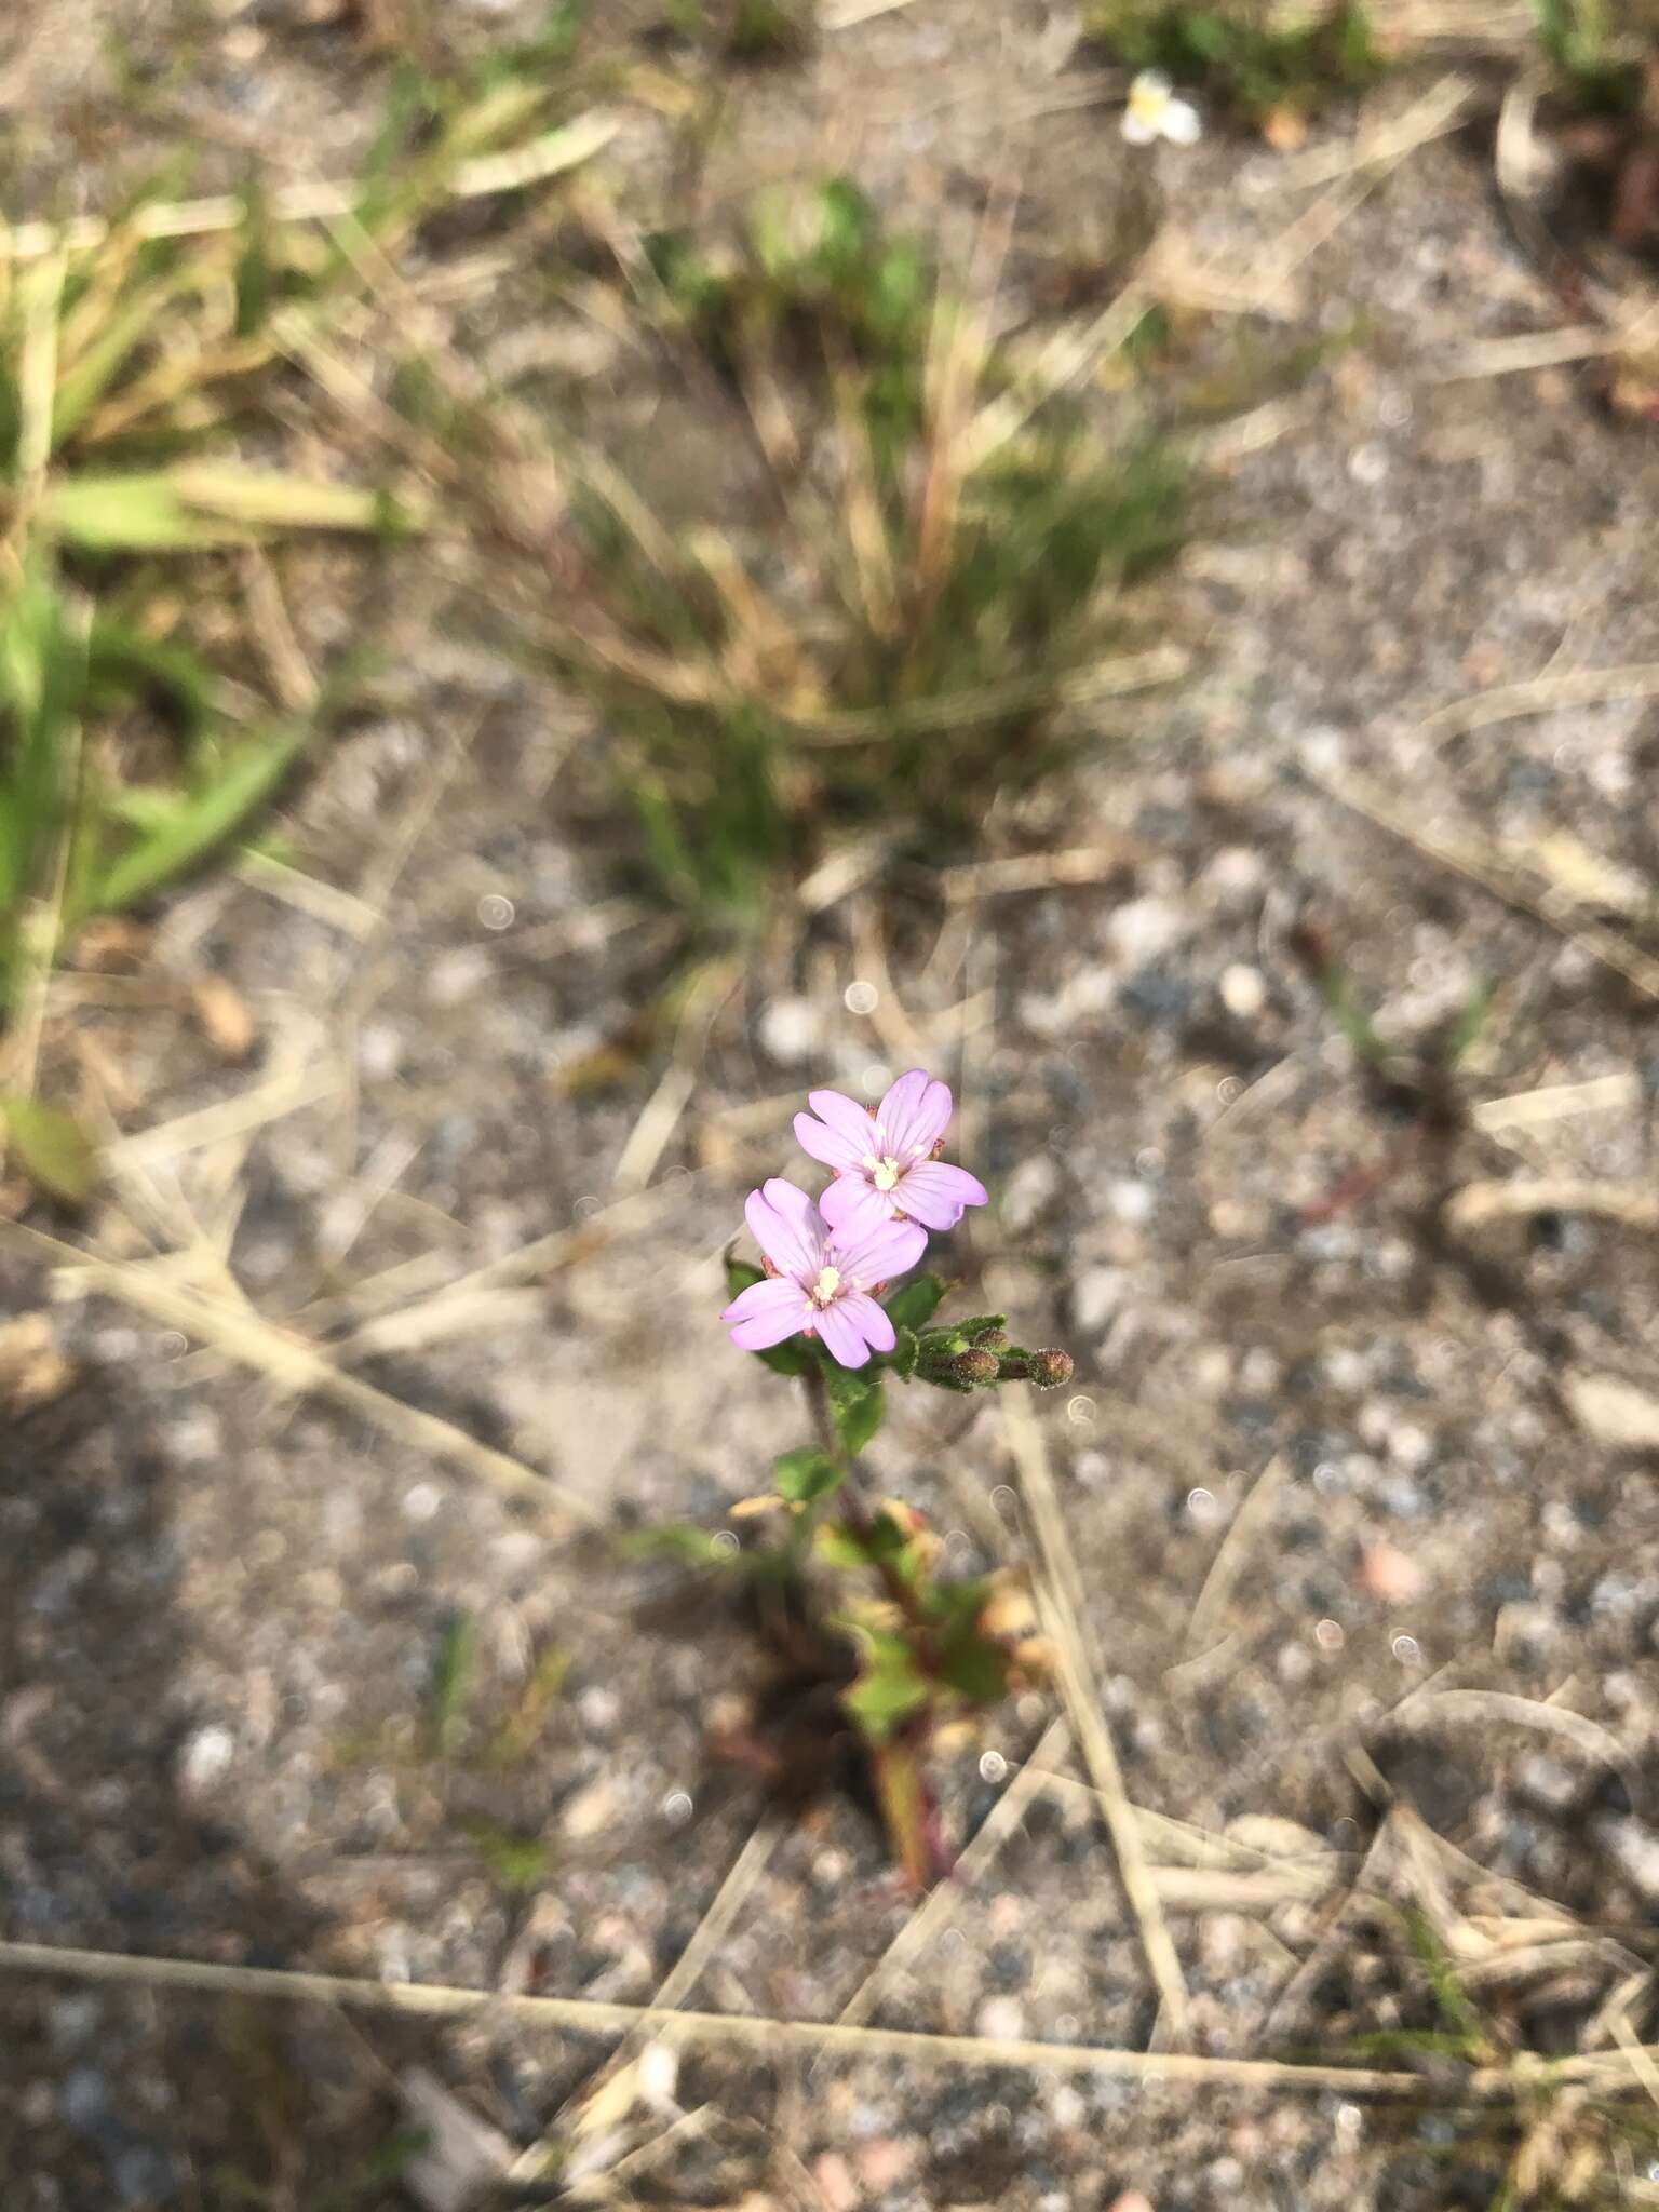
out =
[(657, 891), (745, 933), (838, 836), (949, 858), (1066, 759), (1121, 588), (1179, 540), (1181, 469), (1042, 394), (978, 436), (1011, 363), (847, 181), (759, 201), (726, 257), (657, 239), (650, 268), (763, 520), (668, 522), (571, 453), (575, 593), (540, 635), (604, 712)]

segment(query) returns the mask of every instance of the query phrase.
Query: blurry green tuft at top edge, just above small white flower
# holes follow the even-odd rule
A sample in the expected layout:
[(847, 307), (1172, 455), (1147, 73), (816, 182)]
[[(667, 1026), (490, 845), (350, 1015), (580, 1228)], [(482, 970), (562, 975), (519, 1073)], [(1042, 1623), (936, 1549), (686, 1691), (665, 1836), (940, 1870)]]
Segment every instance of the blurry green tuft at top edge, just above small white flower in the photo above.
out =
[(1164, 69), (1252, 124), (1305, 119), (1389, 66), (1363, 0), (1095, 0), (1088, 35), (1128, 69)]

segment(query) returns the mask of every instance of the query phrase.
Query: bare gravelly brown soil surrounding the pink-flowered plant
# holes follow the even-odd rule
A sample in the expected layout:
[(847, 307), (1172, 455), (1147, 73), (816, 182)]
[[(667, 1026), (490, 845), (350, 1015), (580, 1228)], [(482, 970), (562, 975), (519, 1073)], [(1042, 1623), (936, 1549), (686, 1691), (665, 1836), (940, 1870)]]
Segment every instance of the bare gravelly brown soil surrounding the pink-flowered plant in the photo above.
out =
[[(159, 11), (137, 31), (170, 35)], [(336, 66), (343, 33), (254, 7), (192, 38), (184, 113), (226, 102), (292, 168), (349, 157), (374, 71)], [(0, 49), (31, 133), (86, 97), (51, 46), (13, 31)], [(796, 75), (734, 82), (701, 208), (849, 168), (931, 223), (1013, 164), (1022, 314), (1048, 248), (1121, 195), (1115, 113), (1062, 108), (1082, 80), (1055, 55), (1044, 11), (1000, 0), (916, 0), (830, 35)], [(1376, 113), (1429, 82), (1385, 86)], [(668, 166), (653, 128), (641, 175)], [(1164, 215), (1261, 274), (1325, 190), (1296, 164), (1352, 131), (1338, 115), (1292, 159), (1168, 148)], [(88, 1225), (104, 1248), (206, 1239), (259, 1316), (557, 1491), (500, 1495), (431, 1438), (60, 1283), (80, 1380), (13, 1422), (0, 1484), (4, 1936), (648, 2000), (761, 1816), (706, 1754), (752, 1661), (710, 1593), (690, 1617), (641, 1615), (657, 1577), (562, 1500), (597, 1526), (712, 1526), (799, 1440), (794, 1407), (726, 1347), (719, 1250), (743, 1190), (792, 1172), (810, 1082), (878, 1095), (925, 1057), (958, 1084), (958, 1157), (995, 1192), (951, 1252), (984, 1285), (971, 1303), (1077, 1356), (1073, 1391), (1033, 1413), (1130, 1798), (1234, 1836), (1234, 1893), (1181, 1887), (1190, 1860), (1152, 1851), (1192, 2048), (1329, 2055), (1378, 2024), (1349, 1951), (1336, 1986), (1285, 1991), (1387, 1803), (1473, 1863), (1464, 1911), (1513, 1909), (1509, 1880), (1650, 1955), (1652, 1230), (1442, 1201), (1522, 1179), (1652, 1194), (1655, 971), (1615, 971), (1595, 929), (1639, 947), (1650, 925), (1659, 723), (1639, 695), (1575, 703), (1571, 681), (1546, 712), (1427, 717), (1544, 670), (1659, 661), (1659, 442), (1566, 369), (1449, 374), (1475, 341), (1562, 319), (1504, 226), (1480, 124), (1378, 175), (1292, 283), (1292, 336), (1358, 338), (1210, 480), (1157, 617), (1194, 679), (1137, 712), (1133, 745), (989, 825), (991, 852), (1086, 847), (1086, 880), (911, 918), (887, 973), (874, 902), (832, 907), (721, 1006), (644, 1194), (615, 1172), (661, 1064), (602, 1048), (626, 1042), (657, 947), (611, 902), (604, 845), (571, 830), (580, 717), (447, 641), (429, 584), (398, 637), (407, 712), (356, 728), (292, 807), (303, 867), (349, 898), (195, 889), (124, 987), (86, 991), (126, 1133), (270, 1077), (307, 1093), (246, 1139), (131, 1148)], [(1237, 321), (1190, 343), (1232, 358)], [(661, 465), (675, 431), (655, 422), (641, 409), (635, 436)], [(338, 622), (305, 611), (307, 639)], [(1491, 880), (1447, 865), (1451, 845)], [(1551, 885), (1542, 918), (1528, 900)], [(1425, 1135), (1383, 1095), (1298, 925), (1405, 1053), (1491, 989), (1458, 1084), (1473, 1119)], [(201, 973), (254, 1015), (243, 1066), (192, 1020)], [(845, 1006), (858, 980), (872, 1015)], [(4, 1267), (9, 1312), (46, 1303), (46, 1274)], [(1022, 1555), (993, 1407), (964, 1422), (905, 1402), (874, 1464), (964, 1568)], [(449, 1710), (434, 1686), (458, 1666)], [(1048, 1719), (1029, 1694), (960, 1747), (958, 1840)], [(540, 1849), (509, 1867), (511, 1838)], [(1285, 1865), (1312, 1869), (1298, 1893), (1272, 1887)], [(783, 1829), (688, 2002), (832, 2020), (911, 1911), (860, 1812), (821, 1807)], [(1077, 1781), (1037, 1792), (933, 1916), (872, 2020), (1146, 2046), (1152, 1984)], [(1590, 1966), (1562, 2000), (1568, 2046), (1610, 1980)], [(407, 2059), (522, 2148), (568, 2132), (606, 2053), (489, 2013), (347, 2024), (15, 1978), (0, 2015), (4, 2199), (31, 2212), (400, 2205)], [(630, 2183), (641, 2199), (1104, 2212), (1141, 2190), (1159, 2212), (1416, 2212), (1491, 2192), (1433, 2121), (1400, 2139), (1336, 2093), (688, 2051), (677, 2095), (712, 2110)], [(628, 2146), (661, 2132), (617, 2126)]]

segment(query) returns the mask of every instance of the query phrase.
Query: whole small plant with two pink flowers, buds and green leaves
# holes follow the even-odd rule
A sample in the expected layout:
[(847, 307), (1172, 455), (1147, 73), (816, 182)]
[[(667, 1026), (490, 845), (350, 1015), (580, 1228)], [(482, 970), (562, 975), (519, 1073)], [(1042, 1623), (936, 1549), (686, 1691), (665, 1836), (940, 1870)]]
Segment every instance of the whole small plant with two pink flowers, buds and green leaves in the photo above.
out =
[[(796, 1135), (812, 1157), (841, 1166), (816, 1206), (781, 1179), (750, 1192), (763, 1265), (726, 1254), (721, 1318), (739, 1349), (801, 1385), (812, 1442), (785, 1451), (772, 1489), (734, 1509), (776, 1528), (776, 1542), (728, 1562), (710, 1544), (703, 1559), (745, 1575), (772, 1617), (792, 1624), (796, 1655), (812, 1655), (816, 1690), (834, 1694), (858, 1745), (896, 1865), (925, 1887), (947, 1867), (927, 1772), (940, 1728), (1042, 1679), (1048, 1650), (1026, 1632), (1035, 1619), (1020, 1577), (945, 1575), (945, 1546), (922, 1513), (872, 1500), (858, 1455), (887, 1418), (889, 1383), (962, 1396), (1011, 1383), (1055, 1389), (1073, 1363), (1053, 1347), (1011, 1345), (1002, 1314), (940, 1323), (947, 1285), (909, 1274), (927, 1230), (900, 1203), (953, 1228), (964, 1206), (987, 1201), (971, 1175), (938, 1159), (951, 1117), (945, 1084), (914, 1068), (874, 1115), (830, 1091), (810, 1102), (823, 1119), (799, 1115)], [(695, 1531), (675, 1535), (697, 1555), (686, 1542)], [(754, 1763), (776, 1767), (763, 1747)]]

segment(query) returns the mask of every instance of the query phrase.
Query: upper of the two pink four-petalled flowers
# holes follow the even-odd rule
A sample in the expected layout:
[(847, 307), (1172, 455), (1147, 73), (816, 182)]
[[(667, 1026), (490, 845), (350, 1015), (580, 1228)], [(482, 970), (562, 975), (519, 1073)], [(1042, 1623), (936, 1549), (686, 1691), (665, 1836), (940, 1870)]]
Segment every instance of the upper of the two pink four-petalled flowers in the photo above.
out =
[(947, 1168), (933, 1157), (945, 1144), (951, 1093), (925, 1068), (900, 1075), (874, 1115), (838, 1091), (810, 1091), (807, 1104), (812, 1113), (794, 1117), (794, 1135), (814, 1159), (836, 1170), (818, 1199), (832, 1225), (867, 1212), (953, 1230), (964, 1206), (984, 1206), (984, 1183), (967, 1168)]

